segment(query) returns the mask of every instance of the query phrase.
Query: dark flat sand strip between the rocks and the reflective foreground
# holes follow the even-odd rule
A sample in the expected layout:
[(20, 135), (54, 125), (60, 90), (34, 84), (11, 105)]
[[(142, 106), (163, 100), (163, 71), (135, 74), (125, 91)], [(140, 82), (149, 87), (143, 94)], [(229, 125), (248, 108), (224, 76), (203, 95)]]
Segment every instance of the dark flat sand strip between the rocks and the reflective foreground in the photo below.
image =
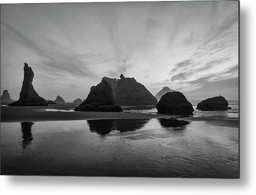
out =
[(170, 118), (186, 121), (204, 121), (215, 126), (239, 127), (239, 119), (194, 117), (166, 114), (145, 113), (111, 113), (111, 112), (52, 112), (36, 111), (38, 107), (1, 107), (1, 122), (44, 122), (44, 121), (72, 121), (72, 120), (107, 120), (107, 119), (157, 119)]

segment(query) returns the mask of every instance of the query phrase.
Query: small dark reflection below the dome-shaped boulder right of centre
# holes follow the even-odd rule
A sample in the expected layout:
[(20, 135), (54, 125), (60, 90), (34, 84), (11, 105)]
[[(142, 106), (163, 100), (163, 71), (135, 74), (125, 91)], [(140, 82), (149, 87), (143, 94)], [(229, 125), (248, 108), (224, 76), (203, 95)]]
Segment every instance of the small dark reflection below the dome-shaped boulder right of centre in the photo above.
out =
[(168, 119), (168, 118), (158, 118), (161, 127), (168, 128), (172, 131), (180, 131), (185, 129), (187, 124), (190, 122), (186, 120)]

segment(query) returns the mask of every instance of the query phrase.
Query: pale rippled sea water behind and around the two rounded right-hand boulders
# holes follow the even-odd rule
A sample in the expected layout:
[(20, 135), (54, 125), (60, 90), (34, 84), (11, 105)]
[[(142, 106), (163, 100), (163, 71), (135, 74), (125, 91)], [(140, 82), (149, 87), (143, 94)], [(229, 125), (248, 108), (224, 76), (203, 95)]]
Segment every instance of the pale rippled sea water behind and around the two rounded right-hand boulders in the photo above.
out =
[[(232, 109), (228, 110), (218, 110), (218, 111), (201, 111), (196, 109), (197, 104), (201, 102), (200, 100), (190, 100), (194, 108), (193, 117), (206, 117), (206, 118), (226, 118), (226, 119), (234, 119), (238, 120), (239, 116), (239, 102), (235, 100), (228, 100), (228, 107)], [(157, 114), (157, 109), (155, 106), (130, 106), (123, 108), (125, 112), (131, 113), (150, 113), (150, 114)]]

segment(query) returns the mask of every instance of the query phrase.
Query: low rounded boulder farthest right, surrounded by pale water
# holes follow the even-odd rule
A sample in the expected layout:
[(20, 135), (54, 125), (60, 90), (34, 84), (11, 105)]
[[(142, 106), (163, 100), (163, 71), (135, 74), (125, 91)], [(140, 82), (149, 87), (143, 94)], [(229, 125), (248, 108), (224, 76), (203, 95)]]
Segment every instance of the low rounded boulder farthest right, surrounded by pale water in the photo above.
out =
[(206, 100), (201, 101), (197, 104), (196, 109), (200, 109), (203, 111), (207, 110), (227, 110), (228, 102), (223, 96), (216, 96), (213, 98), (208, 98)]

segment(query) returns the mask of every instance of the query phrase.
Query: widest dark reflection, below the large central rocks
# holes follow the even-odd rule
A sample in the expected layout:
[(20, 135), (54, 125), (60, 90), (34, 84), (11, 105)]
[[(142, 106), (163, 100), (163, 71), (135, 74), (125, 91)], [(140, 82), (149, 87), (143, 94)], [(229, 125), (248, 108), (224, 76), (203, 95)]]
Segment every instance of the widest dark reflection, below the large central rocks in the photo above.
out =
[(136, 131), (145, 126), (150, 119), (106, 119), (87, 120), (90, 131), (101, 135), (109, 134), (111, 131)]

